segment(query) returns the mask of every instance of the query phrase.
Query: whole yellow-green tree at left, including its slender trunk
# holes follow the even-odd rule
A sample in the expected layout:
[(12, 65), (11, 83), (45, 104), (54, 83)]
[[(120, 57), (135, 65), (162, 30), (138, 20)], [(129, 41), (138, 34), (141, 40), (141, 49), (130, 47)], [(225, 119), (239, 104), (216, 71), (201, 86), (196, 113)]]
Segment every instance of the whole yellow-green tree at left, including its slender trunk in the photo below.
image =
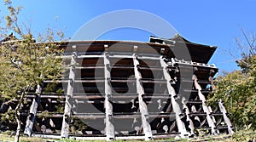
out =
[[(0, 97), (15, 103), (15, 121), (17, 124), (15, 141), (20, 136), (20, 107), (29, 91), (42, 85), (44, 80), (55, 80), (61, 77), (61, 50), (55, 43), (55, 37), (63, 37), (61, 31), (47, 30), (45, 35), (38, 36), (38, 43), (29, 28), (20, 28), (18, 14), (20, 7), (15, 8), (12, 2), (5, 0), (9, 14), (5, 16), (4, 31), (13, 31), (20, 37), (10, 37), (3, 41), (0, 48)], [(21, 29), (26, 29), (25, 31)], [(5, 34), (6, 35), (6, 34)], [(8, 111), (8, 113), (10, 113)]]

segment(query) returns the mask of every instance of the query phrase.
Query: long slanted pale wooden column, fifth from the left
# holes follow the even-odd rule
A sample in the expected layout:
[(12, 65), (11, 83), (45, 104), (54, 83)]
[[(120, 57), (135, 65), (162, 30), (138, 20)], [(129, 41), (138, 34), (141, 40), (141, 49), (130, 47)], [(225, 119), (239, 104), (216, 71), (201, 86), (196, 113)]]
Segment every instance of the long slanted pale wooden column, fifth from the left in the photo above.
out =
[(168, 89), (168, 94), (171, 94), (172, 110), (175, 112), (178, 132), (181, 133), (181, 137), (185, 137), (187, 135), (190, 135), (190, 133), (187, 132), (185, 125), (184, 125), (183, 121), (181, 120), (180, 115), (182, 114), (182, 112), (180, 110), (180, 105), (177, 104), (177, 101), (175, 100), (176, 92), (175, 92), (175, 89), (172, 88), (172, 84), (171, 84), (172, 78), (170, 77), (170, 74), (167, 71), (168, 65), (166, 64), (166, 62), (162, 56), (160, 57), (160, 64), (163, 67), (164, 77), (166, 79), (166, 85), (167, 85), (167, 89)]

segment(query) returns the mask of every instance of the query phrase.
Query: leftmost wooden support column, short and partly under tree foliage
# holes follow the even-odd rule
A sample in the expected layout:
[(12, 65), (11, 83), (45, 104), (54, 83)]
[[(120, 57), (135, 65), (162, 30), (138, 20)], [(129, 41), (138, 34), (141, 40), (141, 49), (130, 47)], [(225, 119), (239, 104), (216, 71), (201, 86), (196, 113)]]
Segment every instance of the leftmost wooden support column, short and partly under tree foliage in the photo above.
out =
[(42, 88), (40, 85), (38, 85), (36, 90), (36, 98), (33, 99), (32, 105), (30, 106), (29, 115), (26, 117), (26, 127), (24, 133), (26, 133), (28, 136), (32, 135), (32, 128), (36, 120), (38, 105), (40, 104), (41, 99), (41, 93)]

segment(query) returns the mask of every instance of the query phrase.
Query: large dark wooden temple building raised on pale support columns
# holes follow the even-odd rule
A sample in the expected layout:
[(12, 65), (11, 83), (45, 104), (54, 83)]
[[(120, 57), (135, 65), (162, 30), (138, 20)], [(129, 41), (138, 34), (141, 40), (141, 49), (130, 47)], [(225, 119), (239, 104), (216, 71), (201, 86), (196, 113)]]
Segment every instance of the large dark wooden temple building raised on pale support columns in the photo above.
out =
[[(149, 43), (75, 41), (61, 48), (63, 78), (26, 95), (22, 128), (29, 136), (147, 140), (233, 133), (222, 102), (206, 105), (218, 72), (207, 63), (217, 47), (177, 35), (150, 37)], [(50, 83), (55, 91), (44, 90)]]

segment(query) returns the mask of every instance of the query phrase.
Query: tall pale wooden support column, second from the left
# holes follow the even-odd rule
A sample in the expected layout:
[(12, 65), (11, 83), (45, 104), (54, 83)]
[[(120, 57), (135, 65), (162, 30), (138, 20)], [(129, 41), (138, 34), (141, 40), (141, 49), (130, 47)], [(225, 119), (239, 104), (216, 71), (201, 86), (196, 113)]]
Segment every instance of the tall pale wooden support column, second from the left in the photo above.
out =
[(73, 108), (73, 90), (74, 90), (74, 81), (75, 81), (75, 65), (77, 53), (75, 52), (76, 46), (73, 45), (73, 54), (71, 56), (71, 64), (69, 68), (69, 77), (67, 82), (67, 94), (66, 94), (66, 102), (65, 109), (62, 118), (62, 127), (61, 127), (61, 137), (68, 138), (69, 133), (69, 123), (71, 121), (72, 108)]

